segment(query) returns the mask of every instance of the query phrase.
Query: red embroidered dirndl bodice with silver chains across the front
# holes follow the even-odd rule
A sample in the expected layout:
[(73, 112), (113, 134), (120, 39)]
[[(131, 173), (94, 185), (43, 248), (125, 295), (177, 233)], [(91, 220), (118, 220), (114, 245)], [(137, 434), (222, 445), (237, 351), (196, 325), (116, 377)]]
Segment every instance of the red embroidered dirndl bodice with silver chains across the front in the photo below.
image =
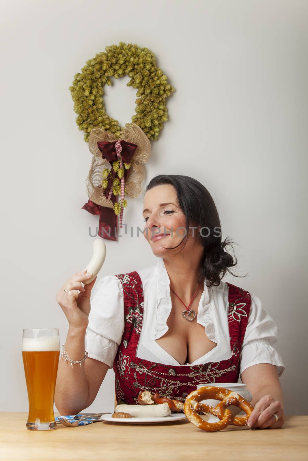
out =
[(144, 297), (139, 273), (117, 274), (123, 287), (125, 326), (113, 363), (116, 400), (136, 404), (140, 390), (185, 401), (197, 384), (237, 383), (239, 358), (248, 323), (251, 296), (242, 288), (229, 287), (228, 323), (231, 358), (202, 365), (170, 366), (136, 357), (142, 328)]

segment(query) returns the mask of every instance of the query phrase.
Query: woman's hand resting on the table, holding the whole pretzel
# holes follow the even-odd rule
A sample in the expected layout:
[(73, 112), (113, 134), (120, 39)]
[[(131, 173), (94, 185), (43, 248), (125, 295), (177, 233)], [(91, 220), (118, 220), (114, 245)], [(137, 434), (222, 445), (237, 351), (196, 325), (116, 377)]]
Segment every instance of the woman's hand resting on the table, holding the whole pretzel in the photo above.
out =
[[(278, 420), (274, 413), (277, 415)], [(248, 418), (248, 426), (253, 429), (277, 429), (284, 424), (284, 409), (278, 400), (272, 396), (263, 396), (254, 406), (254, 410)]]

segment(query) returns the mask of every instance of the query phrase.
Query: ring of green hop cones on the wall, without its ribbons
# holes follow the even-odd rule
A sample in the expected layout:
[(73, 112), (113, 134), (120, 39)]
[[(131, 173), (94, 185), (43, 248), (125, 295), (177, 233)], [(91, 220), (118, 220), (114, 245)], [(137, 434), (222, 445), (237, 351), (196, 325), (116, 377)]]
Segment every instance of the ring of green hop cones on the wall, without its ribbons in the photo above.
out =
[(130, 77), (127, 86), (137, 91), (136, 114), (132, 122), (137, 124), (149, 139), (157, 140), (163, 122), (168, 120), (166, 98), (174, 91), (163, 71), (156, 66), (154, 53), (136, 44), (111, 45), (105, 52), (97, 53), (95, 58), (74, 77), (69, 88), (74, 101), (74, 111), (78, 114), (76, 123), (85, 132), (89, 141), (93, 128), (104, 128), (116, 137), (121, 135), (117, 120), (107, 115), (103, 103), (103, 85), (112, 85), (110, 77)]

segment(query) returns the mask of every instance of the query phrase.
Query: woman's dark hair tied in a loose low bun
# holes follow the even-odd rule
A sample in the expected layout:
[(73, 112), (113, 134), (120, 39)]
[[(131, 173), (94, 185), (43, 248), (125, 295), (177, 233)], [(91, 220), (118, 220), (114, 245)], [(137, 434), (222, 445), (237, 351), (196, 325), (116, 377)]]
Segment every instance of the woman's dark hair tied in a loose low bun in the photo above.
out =
[[(228, 271), (235, 277), (242, 277), (229, 271), (229, 267), (236, 266), (237, 259), (233, 259), (224, 248), (231, 245), (228, 237), (221, 241), (221, 224), (217, 212), (217, 207), (209, 191), (196, 179), (183, 175), (157, 175), (151, 179), (145, 192), (161, 184), (171, 184), (174, 186), (179, 207), (186, 218), (186, 236), (176, 247), (183, 242), (186, 245), (189, 237), (189, 226), (200, 226), (207, 228), (208, 236), (199, 233), (202, 245), (205, 247), (200, 261), (199, 279), (204, 276), (210, 281), (208, 286), (218, 286), (225, 273)], [(218, 229), (218, 231), (216, 230)], [(215, 234), (220, 234), (219, 236)], [(231, 245), (232, 247), (232, 245)], [(232, 247), (233, 249), (233, 247)]]

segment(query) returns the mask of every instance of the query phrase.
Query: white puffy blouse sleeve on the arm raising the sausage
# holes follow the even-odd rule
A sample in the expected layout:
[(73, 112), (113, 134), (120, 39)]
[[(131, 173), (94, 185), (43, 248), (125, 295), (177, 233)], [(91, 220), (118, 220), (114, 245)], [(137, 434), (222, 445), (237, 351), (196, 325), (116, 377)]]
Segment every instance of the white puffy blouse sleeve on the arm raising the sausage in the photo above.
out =
[(124, 331), (124, 298), (120, 280), (107, 275), (97, 281), (91, 297), (89, 325), (85, 334), (88, 357), (112, 368)]

